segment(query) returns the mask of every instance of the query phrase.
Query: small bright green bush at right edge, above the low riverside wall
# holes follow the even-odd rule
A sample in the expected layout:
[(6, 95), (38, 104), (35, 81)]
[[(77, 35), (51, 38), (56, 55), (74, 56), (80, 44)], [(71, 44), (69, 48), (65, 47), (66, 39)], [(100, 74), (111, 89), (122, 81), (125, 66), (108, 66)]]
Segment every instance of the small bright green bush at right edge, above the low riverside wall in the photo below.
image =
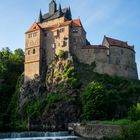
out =
[(130, 108), (128, 118), (132, 121), (140, 120), (140, 103), (137, 103)]

